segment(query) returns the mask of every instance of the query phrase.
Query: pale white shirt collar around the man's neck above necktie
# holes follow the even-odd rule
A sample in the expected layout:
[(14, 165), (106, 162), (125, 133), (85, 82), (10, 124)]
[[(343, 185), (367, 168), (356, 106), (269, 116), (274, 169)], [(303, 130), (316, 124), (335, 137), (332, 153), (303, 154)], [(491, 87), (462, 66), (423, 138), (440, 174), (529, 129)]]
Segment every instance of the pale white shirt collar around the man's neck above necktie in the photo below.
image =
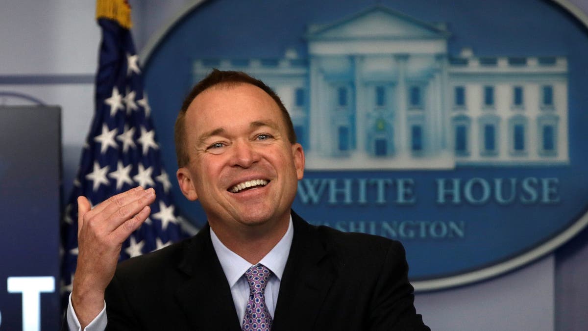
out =
[[(215, 249), (216, 256), (219, 258), (220, 266), (222, 267), (223, 272), (225, 272), (229, 286), (233, 287), (247, 269), (251, 267), (251, 263), (228, 249), (216, 236), (215, 231), (213, 231), (212, 228), (210, 228), (210, 230), (212, 246)], [(288, 230), (286, 230), (282, 239), (280, 239), (276, 246), (273, 246), (273, 249), (259, 261), (260, 264), (263, 264), (271, 270), (279, 280), (282, 280), (282, 274), (286, 267), (286, 260), (288, 260), (293, 237), (294, 229), (292, 226), (292, 216), (290, 216)]]

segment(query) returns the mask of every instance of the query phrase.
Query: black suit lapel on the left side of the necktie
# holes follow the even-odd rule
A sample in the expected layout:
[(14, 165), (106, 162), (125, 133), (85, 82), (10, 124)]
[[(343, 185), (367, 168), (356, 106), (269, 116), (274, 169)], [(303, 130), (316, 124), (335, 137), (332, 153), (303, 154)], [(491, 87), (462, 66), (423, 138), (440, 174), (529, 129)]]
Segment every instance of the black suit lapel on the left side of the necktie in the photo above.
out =
[(240, 330), (230, 287), (204, 227), (186, 247), (179, 269), (189, 279), (176, 298), (195, 330)]

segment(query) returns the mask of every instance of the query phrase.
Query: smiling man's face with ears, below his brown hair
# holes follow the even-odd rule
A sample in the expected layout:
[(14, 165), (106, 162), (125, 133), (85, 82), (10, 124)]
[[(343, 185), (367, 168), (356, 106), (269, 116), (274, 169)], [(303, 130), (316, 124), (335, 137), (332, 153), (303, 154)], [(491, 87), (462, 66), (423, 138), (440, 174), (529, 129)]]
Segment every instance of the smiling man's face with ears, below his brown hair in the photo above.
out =
[(289, 219), (304, 154), (288, 140), (266, 92), (250, 84), (208, 88), (188, 107), (184, 125), (190, 162), (178, 181), (189, 200), (201, 201), (215, 231)]

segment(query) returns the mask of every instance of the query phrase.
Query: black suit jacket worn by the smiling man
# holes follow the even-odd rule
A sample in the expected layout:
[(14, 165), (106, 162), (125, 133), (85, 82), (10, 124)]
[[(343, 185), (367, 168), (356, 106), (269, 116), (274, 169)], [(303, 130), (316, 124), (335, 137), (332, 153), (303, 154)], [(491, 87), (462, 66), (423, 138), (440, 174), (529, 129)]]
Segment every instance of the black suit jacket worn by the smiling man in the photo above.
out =
[[(429, 330), (413, 306), (400, 243), (315, 227), (294, 237), (273, 331)], [(208, 227), (119, 264), (106, 290), (107, 330), (240, 330)]]

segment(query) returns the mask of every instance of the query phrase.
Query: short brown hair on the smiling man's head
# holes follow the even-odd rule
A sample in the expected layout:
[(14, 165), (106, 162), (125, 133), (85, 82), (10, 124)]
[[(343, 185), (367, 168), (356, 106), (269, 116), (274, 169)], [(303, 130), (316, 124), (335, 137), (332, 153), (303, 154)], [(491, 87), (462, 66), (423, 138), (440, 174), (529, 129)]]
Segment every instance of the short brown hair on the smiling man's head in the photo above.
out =
[(233, 85), (233, 84), (251, 84), (256, 87), (259, 87), (263, 91), (265, 91), (270, 97), (272, 97), (273, 101), (278, 104), (280, 111), (282, 112), (282, 118), (284, 123), (286, 124), (286, 130), (288, 131), (288, 140), (290, 143), (296, 143), (296, 133), (294, 132), (294, 126), (292, 125), (292, 119), (290, 118), (290, 114), (288, 114), (288, 110), (278, 97), (278, 94), (274, 92), (268, 85), (264, 82), (251, 77), (250, 75), (246, 74), (242, 71), (221, 71), (219, 69), (213, 69), (208, 76), (206, 76), (203, 80), (199, 81), (196, 84), (192, 91), (189, 92), (188, 96), (184, 99), (182, 103), (182, 108), (179, 111), (178, 118), (176, 118), (176, 124), (174, 128), (174, 140), (176, 144), (176, 157), (178, 158), (178, 167), (185, 167), (190, 162), (190, 156), (186, 152), (186, 127), (185, 127), (185, 118), (186, 118), (186, 111), (188, 111), (188, 107), (194, 101), (194, 99), (205, 91), (208, 88), (211, 88), (215, 85)]

